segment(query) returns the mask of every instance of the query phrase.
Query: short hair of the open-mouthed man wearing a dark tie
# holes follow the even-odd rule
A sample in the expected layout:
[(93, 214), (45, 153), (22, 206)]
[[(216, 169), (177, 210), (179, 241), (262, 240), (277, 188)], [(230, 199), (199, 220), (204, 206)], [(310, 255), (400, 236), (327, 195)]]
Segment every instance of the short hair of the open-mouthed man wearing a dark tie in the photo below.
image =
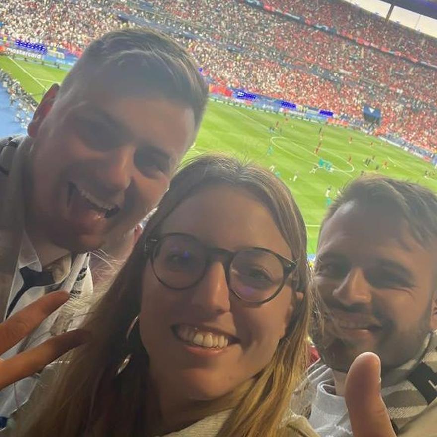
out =
[[(192, 56), (181, 45), (151, 29), (123, 29), (94, 40), (64, 79), (60, 96), (77, 83), (116, 83), (114, 93), (165, 97), (193, 109), (199, 127), (208, 87)], [(79, 88), (80, 89), (80, 88)]]

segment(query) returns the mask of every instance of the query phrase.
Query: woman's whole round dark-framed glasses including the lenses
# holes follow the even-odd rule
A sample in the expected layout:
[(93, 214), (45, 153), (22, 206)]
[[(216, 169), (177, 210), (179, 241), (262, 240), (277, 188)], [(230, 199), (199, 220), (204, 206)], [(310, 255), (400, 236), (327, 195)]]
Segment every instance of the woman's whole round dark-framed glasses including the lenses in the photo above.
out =
[(209, 247), (192, 235), (168, 233), (146, 241), (145, 252), (158, 281), (173, 290), (198, 284), (212, 261), (224, 258), (230, 291), (240, 300), (262, 304), (275, 298), (284, 287), (296, 263), (272, 250), (249, 247), (231, 252)]

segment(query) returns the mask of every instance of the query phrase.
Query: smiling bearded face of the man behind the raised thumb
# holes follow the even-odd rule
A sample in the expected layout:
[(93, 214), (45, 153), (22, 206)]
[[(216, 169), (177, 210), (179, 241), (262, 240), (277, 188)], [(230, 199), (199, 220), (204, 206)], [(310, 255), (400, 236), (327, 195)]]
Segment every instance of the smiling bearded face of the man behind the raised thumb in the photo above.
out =
[(372, 351), (387, 370), (412, 358), (436, 329), (436, 258), (437, 241), (420, 245), (399, 215), (343, 204), (323, 226), (315, 264), (325, 326), (314, 340), (323, 361), (347, 371)]

